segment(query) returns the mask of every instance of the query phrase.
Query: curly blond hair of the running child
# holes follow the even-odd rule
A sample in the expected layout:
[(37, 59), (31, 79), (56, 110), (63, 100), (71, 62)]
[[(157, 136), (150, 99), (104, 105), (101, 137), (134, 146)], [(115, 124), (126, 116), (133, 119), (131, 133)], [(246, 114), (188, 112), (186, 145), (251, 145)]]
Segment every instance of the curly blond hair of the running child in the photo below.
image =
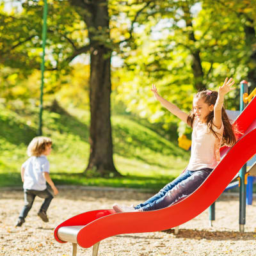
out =
[(50, 138), (42, 136), (35, 137), (28, 145), (27, 154), (28, 156), (41, 156), (49, 145), (52, 145)]

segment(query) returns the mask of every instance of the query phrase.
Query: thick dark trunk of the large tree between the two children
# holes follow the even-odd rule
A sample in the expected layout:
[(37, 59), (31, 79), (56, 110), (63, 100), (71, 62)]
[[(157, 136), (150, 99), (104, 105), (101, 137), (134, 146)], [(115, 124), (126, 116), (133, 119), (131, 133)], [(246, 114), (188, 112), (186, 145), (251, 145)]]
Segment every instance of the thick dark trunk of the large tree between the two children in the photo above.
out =
[(90, 157), (84, 173), (120, 175), (113, 163), (110, 121), (111, 76), (108, 0), (71, 0), (88, 27), (90, 38)]

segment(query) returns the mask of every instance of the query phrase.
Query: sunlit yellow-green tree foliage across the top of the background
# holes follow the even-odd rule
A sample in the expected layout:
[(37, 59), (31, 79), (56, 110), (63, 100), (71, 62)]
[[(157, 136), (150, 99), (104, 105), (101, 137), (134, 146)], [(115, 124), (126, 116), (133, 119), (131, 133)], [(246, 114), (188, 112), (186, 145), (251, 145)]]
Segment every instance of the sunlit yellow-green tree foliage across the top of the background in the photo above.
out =
[[(88, 90), (89, 70), (84, 72), (86, 79), (77, 79), (75, 83), (80, 84), (76, 88), (71, 79), (79, 74), (67, 76), (67, 73), (72, 70), (68, 65), (72, 56), (89, 44), (88, 28), (82, 16), (90, 18), (90, 13), (75, 9), (69, 3), (48, 1), (45, 65), (52, 70), (45, 74), (45, 95), (61, 90), (58, 100), (81, 107), (88, 104), (88, 97), (84, 97), (81, 88), (85, 80), (84, 87)], [(164, 123), (163, 129), (168, 131), (177, 124), (177, 119), (153, 100), (150, 84), (156, 83), (166, 99), (189, 111), (196, 92), (191, 68), (193, 52), (199, 51), (202, 79), (207, 88), (218, 88), (226, 76), (233, 76), (237, 83), (246, 78), (255, 68), (249, 58), (253, 48), (244, 33), (246, 26), (253, 28), (255, 25), (253, 3), (254, 0), (214, 4), (207, 0), (109, 1), (109, 31), (100, 26), (89, 30), (97, 40), (110, 44), (109, 48), (115, 50), (113, 54), (125, 61), (124, 67), (114, 70), (112, 75), (115, 102), (122, 101), (128, 112), (136, 111), (150, 122)], [(193, 11), (195, 6), (197, 11)], [(1, 4), (0, 24), (4, 26), (0, 26), (3, 39), (0, 43), (0, 90), (6, 99), (38, 98), (35, 88), (39, 86), (40, 76), (34, 72), (34, 79), (29, 77), (36, 86), (28, 85), (24, 79), (40, 65), (42, 8), (43, 1), (24, 1), (21, 11), (13, 9), (7, 13), (4, 3)], [(108, 33), (110, 38), (104, 37)], [(195, 40), (191, 40), (191, 33)], [(54, 70), (56, 68), (58, 70)], [(68, 84), (72, 84), (71, 90)], [(230, 93), (229, 98), (228, 108), (237, 109), (238, 93)]]

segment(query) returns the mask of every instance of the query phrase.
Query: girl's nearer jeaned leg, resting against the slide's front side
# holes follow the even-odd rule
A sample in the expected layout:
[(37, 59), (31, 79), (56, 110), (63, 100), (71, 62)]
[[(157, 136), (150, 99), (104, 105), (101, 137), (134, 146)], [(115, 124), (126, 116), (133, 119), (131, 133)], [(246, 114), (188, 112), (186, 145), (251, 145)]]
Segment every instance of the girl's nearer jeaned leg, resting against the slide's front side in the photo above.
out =
[(180, 198), (188, 196), (193, 193), (208, 177), (212, 169), (204, 168), (195, 172), (188, 179), (182, 180), (179, 184), (174, 186), (165, 196), (145, 205), (143, 211), (153, 211), (168, 207), (177, 202)]

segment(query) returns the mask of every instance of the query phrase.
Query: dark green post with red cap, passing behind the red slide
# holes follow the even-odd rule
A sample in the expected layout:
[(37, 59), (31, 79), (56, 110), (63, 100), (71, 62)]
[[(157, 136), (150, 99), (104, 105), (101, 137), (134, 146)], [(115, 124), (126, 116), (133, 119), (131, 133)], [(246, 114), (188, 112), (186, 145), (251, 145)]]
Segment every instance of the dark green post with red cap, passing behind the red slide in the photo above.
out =
[[(240, 113), (244, 110), (245, 104), (243, 101), (244, 93), (248, 93), (248, 83), (243, 80), (241, 81), (240, 87)], [(245, 184), (245, 176), (246, 173), (246, 164), (239, 171), (239, 231), (244, 232), (244, 224), (245, 224), (245, 210), (246, 210), (246, 184)]]

